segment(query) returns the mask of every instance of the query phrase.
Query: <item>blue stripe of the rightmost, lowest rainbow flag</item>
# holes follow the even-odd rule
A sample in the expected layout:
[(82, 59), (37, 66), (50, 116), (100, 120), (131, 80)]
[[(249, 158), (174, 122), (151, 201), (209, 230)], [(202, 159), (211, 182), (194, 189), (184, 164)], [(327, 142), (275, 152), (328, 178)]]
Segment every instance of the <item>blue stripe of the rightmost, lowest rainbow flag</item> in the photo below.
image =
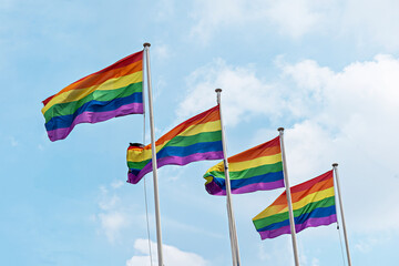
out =
[[(284, 227), (284, 226), (288, 226), (289, 225), (288, 213), (286, 212), (285, 214), (287, 214), (287, 219), (275, 223), (275, 224), (270, 224), (270, 225), (262, 227), (262, 228), (258, 228), (257, 232), (273, 231), (273, 229), (278, 229), (278, 228)], [(327, 216), (330, 216), (332, 214), (336, 214), (335, 205), (331, 205), (329, 207), (315, 208), (310, 213), (301, 214), (301, 215), (295, 217), (294, 221), (295, 221), (295, 224), (298, 225), (298, 224), (304, 224), (309, 218), (327, 217)]]

